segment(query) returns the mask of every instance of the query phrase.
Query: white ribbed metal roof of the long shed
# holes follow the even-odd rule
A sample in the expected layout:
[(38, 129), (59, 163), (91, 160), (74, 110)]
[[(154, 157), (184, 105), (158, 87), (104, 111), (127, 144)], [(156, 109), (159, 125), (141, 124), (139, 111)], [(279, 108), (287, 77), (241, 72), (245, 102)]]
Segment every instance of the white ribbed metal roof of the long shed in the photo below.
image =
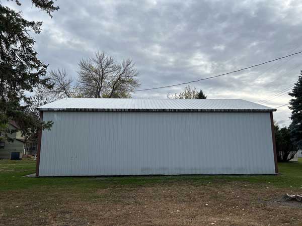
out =
[(38, 110), (49, 111), (191, 111), (191, 112), (268, 112), (276, 111), (243, 99), (113, 99), (63, 98)]

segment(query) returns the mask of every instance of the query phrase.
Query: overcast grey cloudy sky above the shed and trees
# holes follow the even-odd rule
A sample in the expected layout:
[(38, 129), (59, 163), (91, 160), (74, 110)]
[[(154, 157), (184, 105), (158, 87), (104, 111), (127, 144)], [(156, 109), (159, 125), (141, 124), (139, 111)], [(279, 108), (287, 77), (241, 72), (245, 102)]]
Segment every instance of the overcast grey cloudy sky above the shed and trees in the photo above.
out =
[[(133, 59), (142, 89), (209, 77), (302, 50), (301, 1), (59, 0), (53, 19), (29, 1), (22, 7), (5, 0), (2, 4), (23, 11), (29, 20), (43, 21), (43, 31), (33, 36), (49, 69), (64, 68), (77, 78), (82, 58), (105, 51), (117, 61)], [(294, 84), (301, 59), (302, 54), (295, 55), (191, 86), (208, 98), (268, 98), (264, 104), (277, 107), (290, 97), (286, 91), (271, 96)], [(184, 87), (132, 96), (166, 98)], [(280, 125), (288, 125), (289, 116), (287, 106), (274, 113)]]

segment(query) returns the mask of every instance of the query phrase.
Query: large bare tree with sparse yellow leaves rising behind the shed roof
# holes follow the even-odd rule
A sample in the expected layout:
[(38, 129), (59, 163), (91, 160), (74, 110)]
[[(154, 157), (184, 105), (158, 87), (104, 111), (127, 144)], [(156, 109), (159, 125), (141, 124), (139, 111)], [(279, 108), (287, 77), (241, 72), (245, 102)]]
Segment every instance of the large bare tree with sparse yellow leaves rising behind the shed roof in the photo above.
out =
[(127, 98), (139, 86), (138, 71), (132, 60), (115, 63), (104, 52), (82, 59), (78, 71), (79, 87), (85, 97)]

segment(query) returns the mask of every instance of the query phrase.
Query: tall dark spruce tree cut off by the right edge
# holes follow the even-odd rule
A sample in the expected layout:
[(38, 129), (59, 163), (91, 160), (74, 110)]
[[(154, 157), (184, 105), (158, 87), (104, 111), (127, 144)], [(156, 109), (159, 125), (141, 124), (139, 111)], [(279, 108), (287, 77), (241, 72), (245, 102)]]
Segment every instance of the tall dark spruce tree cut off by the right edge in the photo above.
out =
[(302, 148), (302, 71), (298, 77), (298, 81), (288, 95), (293, 98), (289, 101), (289, 109), (291, 109), (291, 125), (290, 137), (294, 145), (298, 149)]

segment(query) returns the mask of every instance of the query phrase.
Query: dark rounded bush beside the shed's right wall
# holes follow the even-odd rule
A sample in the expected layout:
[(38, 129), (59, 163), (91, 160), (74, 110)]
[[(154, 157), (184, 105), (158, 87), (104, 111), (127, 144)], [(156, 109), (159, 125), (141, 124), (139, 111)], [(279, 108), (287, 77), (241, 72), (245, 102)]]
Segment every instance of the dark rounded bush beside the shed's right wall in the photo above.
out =
[(287, 162), (297, 153), (296, 146), (290, 139), (290, 129), (288, 127), (280, 128), (274, 123), (276, 138), (276, 152), (278, 162)]

